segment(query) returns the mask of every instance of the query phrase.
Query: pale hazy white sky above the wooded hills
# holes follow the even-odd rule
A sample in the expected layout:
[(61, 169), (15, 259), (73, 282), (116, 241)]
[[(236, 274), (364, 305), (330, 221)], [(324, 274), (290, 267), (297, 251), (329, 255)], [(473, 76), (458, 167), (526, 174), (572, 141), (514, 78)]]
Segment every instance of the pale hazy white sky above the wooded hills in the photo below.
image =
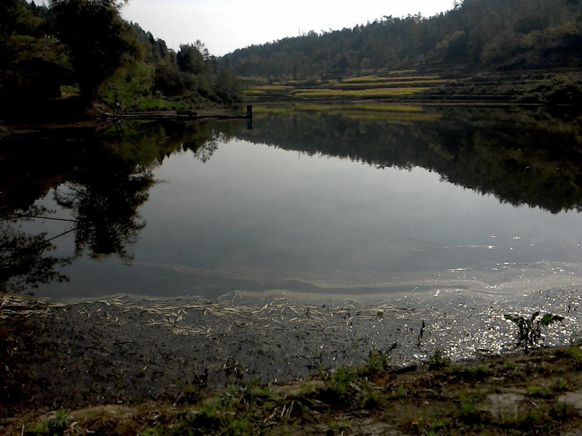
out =
[(162, 38), (169, 48), (200, 39), (214, 55), (309, 30), (337, 30), (384, 15), (451, 9), (453, 0), (130, 0), (127, 20)]

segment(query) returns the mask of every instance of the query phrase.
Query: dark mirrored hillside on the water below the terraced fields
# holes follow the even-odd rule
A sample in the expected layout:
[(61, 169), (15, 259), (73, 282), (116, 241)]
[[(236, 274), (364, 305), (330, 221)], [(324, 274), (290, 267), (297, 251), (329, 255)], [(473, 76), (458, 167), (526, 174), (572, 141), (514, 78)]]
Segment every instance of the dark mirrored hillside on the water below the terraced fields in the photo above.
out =
[(377, 167), (424, 167), (514, 206), (582, 210), (580, 120), (501, 109), (289, 108), (259, 110), (255, 129), (237, 135)]

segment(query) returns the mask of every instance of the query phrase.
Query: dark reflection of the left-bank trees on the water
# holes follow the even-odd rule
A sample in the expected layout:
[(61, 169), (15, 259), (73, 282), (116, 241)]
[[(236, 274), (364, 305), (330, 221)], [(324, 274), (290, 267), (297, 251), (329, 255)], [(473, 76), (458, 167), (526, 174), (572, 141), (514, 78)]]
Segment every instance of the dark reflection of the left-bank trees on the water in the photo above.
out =
[[(66, 281), (61, 268), (88, 252), (131, 259), (145, 220), (139, 206), (156, 183), (152, 170), (175, 152), (206, 162), (229, 128), (214, 123), (134, 124), (105, 131), (55, 130), (0, 141), (0, 292)], [(34, 203), (52, 191), (71, 212), (73, 257), (51, 255), (61, 235), (23, 230), (51, 211)], [(32, 227), (31, 227), (32, 228)], [(56, 237), (56, 238), (55, 238)]]

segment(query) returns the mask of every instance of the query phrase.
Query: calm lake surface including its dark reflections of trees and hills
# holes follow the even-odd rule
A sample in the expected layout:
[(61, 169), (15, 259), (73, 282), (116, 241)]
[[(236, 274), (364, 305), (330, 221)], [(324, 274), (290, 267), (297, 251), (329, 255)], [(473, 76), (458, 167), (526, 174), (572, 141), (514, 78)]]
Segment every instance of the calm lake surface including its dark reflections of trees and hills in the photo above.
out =
[(254, 109), (252, 129), (139, 123), (3, 138), (0, 284), (52, 297), (363, 303), (580, 287), (580, 119)]

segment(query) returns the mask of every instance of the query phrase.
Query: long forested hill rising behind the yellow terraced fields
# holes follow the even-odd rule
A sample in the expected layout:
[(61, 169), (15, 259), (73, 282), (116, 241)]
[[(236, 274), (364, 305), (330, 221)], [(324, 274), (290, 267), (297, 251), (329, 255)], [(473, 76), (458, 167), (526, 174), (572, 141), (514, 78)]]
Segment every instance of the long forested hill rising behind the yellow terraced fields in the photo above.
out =
[(409, 67), (579, 67), (581, 47), (580, 0), (464, 0), (430, 18), (384, 16), (237, 49), (225, 58), (242, 76), (324, 78)]

